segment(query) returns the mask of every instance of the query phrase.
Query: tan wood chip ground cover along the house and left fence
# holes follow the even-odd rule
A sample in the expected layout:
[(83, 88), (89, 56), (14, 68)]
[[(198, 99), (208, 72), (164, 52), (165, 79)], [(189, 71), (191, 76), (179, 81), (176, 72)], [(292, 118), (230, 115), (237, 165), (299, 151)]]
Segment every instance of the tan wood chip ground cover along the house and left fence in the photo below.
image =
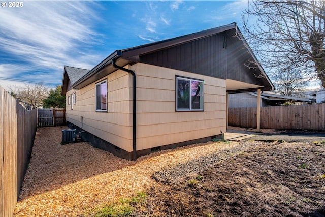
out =
[(14, 216), (80, 216), (157, 185), (156, 171), (239, 144), (193, 144), (128, 161), (86, 142), (61, 145), (64, 129), (38, 128)]

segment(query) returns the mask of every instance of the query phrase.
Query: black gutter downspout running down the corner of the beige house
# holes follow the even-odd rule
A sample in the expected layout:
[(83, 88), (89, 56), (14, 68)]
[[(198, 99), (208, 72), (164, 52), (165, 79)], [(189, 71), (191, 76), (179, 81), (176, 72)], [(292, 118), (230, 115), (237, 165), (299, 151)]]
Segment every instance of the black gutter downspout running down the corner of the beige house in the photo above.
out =
[(116, 65), (116, 59), (112, 59), (112, 66), (115, 69), (122, 70), (124, 72), (127, 72), (132, 75), (132, 101), (133, 101), (133, 159), (132, 160), (137, 160), (137, 121), (136, 121), (136, 74), (134, 71), (125, 69), (123, 67), (117, 66)]

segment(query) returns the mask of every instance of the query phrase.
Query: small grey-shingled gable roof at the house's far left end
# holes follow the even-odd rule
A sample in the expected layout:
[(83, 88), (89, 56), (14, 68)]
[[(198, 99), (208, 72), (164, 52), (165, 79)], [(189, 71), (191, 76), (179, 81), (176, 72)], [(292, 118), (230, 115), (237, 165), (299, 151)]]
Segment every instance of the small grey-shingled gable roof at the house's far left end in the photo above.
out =
[(88, 69), (64, 66), (61, 94), (65, 95), (70, 85), (82, 78), (87, 72), (89, 72)]

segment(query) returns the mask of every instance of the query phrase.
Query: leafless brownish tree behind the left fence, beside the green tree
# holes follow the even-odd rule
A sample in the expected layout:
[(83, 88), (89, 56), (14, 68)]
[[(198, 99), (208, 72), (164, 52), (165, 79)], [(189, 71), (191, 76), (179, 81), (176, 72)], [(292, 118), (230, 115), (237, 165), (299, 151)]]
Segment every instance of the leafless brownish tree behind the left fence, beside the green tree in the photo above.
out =
[(27, 109), (41, 107), (47, 95), (48, 89), (43, 84), (26, 83), (25, 87), (11, 89), (11, 96), (20, 101)]

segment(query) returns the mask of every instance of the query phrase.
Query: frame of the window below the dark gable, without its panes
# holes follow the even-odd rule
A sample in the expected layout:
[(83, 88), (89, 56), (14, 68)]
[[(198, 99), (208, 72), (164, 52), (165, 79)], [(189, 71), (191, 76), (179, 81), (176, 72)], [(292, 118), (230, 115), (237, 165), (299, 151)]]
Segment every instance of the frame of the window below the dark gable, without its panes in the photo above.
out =
[[(189, 77), (183, 77), (183, 76), (175, 76), (175, 111), (176, 112), (183, 112), (183, 111), (204, 111), (204, 80), (202, 79), (196, 79), (196, 78), (189, 78)], [(200, 95), (202, 95), (202, 99), (200, 100), (200, 104), (202, 103), (202, 109), (193, 109), (192, 108), (192, 103), (191, 101), (189, 102), (189, 108), (178, 108), (178, 81), (179, 80), (183, 80), (183, 81), (189, 81), (190, 84), (192, 83), (192, 81), (197, 81), (197, 82), (201, 82), (202, 83), (202, 90), (200, 90)], [(192, 87), (190, 85), (190, 89), (189, 92), (191, 93), (192, 91)], [(191, 96), (191, 94), (189, 95)], [(189, 98), (189, 100), (191, 99), (191, 97)], [(201, 107), (201, 105), (200, 105)]]

